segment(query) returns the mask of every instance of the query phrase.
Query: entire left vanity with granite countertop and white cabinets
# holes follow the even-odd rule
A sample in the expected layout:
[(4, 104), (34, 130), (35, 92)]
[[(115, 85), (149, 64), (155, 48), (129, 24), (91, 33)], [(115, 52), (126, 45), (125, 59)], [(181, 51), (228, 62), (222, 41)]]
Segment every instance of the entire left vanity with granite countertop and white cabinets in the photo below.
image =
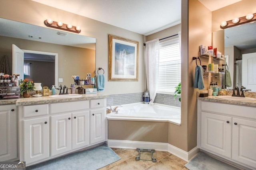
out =
[(1, 128), (6, 129), (1, 135), (7, 143), (0, 147), (0, 161), (20, 159), (30, 166), (100, 145), (106, 141), (106, 97), (100, 94), (65, 99), (45, 96), (1, 105)]

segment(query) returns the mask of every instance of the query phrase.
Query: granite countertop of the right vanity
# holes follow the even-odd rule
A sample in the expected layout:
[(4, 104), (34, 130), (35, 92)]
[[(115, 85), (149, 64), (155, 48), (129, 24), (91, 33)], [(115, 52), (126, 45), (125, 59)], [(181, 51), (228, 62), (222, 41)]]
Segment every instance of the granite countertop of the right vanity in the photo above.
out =
[[(251, 93), (253, 93), (253, 92), (251, 92)], [(202, 101), (206, 101), (206, 102), (216, 102), (216, 103), (223, 103), (223, 104), (256, 107), (256, 101), (226, 100), (226, 99), (218, 99), (218, 98), (216, 98), (216, 96), (199, 97), (199, 92), (197, 92), (197, 94), (198, 94), (197, 95), (198, 100), (202, 100)], [(228, 96), (231, 96), (231, 95), (228, 95)], [(255, 92), (254, 92), (254, 94), (248, 94), (246, 97), (255, 98)]]

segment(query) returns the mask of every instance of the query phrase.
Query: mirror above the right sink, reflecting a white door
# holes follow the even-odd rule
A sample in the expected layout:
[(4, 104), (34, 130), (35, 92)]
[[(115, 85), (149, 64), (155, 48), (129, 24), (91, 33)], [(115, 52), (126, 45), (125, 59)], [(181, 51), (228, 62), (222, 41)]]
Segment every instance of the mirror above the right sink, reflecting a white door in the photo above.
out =
[[(233, 86), (256, 91), (256, 22), (224, 29), (225, 56), (233, 69)], [(248, 54), (249, 57), (248, 57)]]

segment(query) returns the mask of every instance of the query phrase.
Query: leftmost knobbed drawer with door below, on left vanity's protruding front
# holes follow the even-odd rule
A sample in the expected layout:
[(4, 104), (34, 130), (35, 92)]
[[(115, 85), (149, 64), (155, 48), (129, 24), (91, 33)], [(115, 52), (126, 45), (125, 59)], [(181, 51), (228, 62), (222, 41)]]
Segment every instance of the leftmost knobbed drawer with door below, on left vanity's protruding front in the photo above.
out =
[[(48, 104), (19, 107), (20, 121), (20, 139), (22, 139), (22, 149), (24, 154), (20, 159), (24, 159), (26, 164), (48, 158), (49, 152), (49, 111)], [(22, 126), (22, 127), (21, 127)], [(22, 136), (21, 136), (22, 134)], [(21, 145), (21, 144), (20, 144)]]

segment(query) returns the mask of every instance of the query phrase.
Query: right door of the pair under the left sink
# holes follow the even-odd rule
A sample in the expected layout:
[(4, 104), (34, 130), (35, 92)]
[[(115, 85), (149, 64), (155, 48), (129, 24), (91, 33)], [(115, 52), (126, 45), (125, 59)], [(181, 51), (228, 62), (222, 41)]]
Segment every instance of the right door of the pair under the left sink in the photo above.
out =
[(89, 111), (72, 113), (72, 149), (89, 145)]

